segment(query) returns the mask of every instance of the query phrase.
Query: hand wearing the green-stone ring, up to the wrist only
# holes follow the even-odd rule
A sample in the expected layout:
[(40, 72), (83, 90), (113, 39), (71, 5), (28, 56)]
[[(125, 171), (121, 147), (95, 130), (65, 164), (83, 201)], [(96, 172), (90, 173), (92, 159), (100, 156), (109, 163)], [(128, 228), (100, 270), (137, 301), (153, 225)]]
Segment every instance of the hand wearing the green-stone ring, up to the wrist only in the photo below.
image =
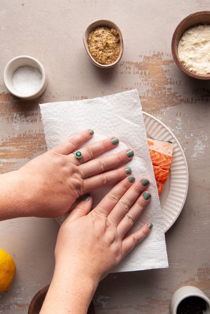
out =
[(119, 140), (114, 137), (81, 148), (84, 163), (80, 165), (71, 153), (91, 138), (93, 133), (92, 130), (84, 130), (18, 170), (27, 197), (24, 202), (28, 208), (27, 215), (57, 217), (65, 214), (78, 197), (119, 181), (131, 173), (128, 167), (110, 170), (130, 160), (133, 156), (131, 149), (91, 160), (116, 147)]

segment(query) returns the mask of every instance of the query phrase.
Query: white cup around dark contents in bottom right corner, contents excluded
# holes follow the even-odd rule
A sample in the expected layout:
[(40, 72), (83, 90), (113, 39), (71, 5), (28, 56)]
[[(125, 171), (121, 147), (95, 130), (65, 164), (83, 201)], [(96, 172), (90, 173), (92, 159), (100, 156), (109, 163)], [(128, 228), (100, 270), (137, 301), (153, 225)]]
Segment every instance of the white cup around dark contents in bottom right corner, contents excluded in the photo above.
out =
[(204, 311), (205, 314), (210, 314), (210, 300), (207, 298), (205, 293), (198, 289), (197, 287), (193, 286), (184, 286), (179, 288), (175, 291), (175, 293), (172, 295), (171, 301), (170, 301), (170, 310), (172, 314), (177, 314), (177, 308), (180, 304), (180, 302), (188, 297), (191, 296), (197, 296), (199, 298), (202, 298), (206, 302), (206, 311)]

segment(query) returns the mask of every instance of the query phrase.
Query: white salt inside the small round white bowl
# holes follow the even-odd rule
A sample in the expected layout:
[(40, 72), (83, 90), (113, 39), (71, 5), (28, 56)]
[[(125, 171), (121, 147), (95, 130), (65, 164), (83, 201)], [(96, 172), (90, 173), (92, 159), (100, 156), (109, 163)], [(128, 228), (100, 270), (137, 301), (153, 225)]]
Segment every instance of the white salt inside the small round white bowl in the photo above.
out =
[(34, 94), (40, 87), (42, 75), (40, 70), (31, 66), (22, 66), (13, 74), (13, 86), (21, 95)]

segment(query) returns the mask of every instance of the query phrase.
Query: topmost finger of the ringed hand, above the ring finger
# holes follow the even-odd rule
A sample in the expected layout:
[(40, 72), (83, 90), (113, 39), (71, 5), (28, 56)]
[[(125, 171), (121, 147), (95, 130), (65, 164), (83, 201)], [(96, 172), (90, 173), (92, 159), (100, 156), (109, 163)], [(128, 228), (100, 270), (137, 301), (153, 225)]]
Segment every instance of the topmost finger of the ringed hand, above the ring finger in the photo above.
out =
[(67, 139), (65, 142), (61, 143), (57, 147), (53, 148), (58, 154), (68, 155), (72, 153), (77, 147), (82, 143), (91, 138), (94, 131), (91, 129), (84, 130), (80, 133), (73, 135), (71, 138)]

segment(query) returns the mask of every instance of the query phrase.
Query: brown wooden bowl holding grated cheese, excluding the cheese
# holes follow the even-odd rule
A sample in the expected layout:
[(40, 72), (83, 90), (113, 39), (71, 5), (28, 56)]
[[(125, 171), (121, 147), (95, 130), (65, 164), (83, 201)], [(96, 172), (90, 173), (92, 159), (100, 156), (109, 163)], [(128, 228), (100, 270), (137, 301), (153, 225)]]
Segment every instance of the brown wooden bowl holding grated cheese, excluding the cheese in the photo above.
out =
[(188, 76), (192, 78), (198, 78), (198, 79), (210, 79), (210, 73), (209, 74), (197, 74), (193, 73), (187, 68), (184, 67), (184, 65), (180, 62), (178, 57), (178, 44), (179, 41), (184, 34), (186, 30), (188, 30), (191, 27), (197, 26), (197, 25), (210, 25), (210, 11), (200, 11), (193, 14), (188, 15), (185, 19), (183, 19), (178, 26), (176, 27), (172, 41), (171, 41), (171, 51), (172, 56), (174, 58), (174, 61), (176, 65)]

